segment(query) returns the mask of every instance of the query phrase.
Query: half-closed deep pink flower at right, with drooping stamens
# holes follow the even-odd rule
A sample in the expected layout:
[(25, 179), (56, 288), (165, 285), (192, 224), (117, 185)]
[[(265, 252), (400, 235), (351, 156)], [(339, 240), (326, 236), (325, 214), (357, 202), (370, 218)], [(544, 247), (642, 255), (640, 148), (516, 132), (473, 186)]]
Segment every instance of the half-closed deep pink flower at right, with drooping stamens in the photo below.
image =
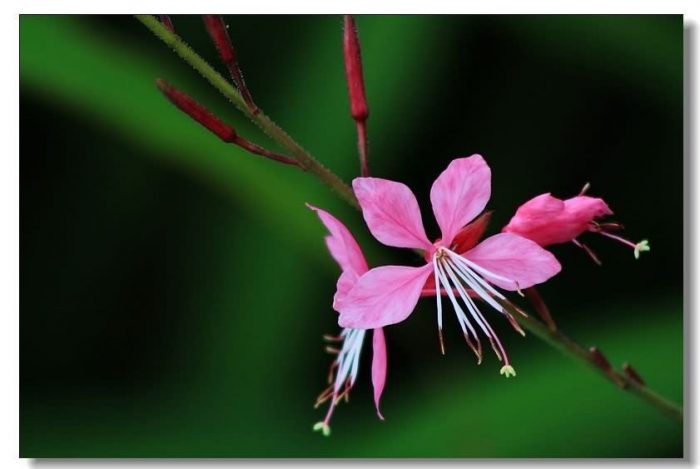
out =
[(597, 197), (583, 195), (588, 189), (584, 187), (581, 194), (567, 200), (557, 199), (551, 194), (541, 194), (528, 200), (515, 212), (510, 222), (503, 228), (504, 233), (514, 233), (531, 239), (540, 246), (549, 246), (573, 242), (600, 263), (596, 255), (578, 237), (587, 231), (600, 233), (634, 249), (634, 257), (639, 259), (641, 252), (649, 251), (649, 242), (642, 240), (633, 243), (610, 233), (619, 230), (618, 223), (599, 223), (599, 218), (612, 215), (612, 210)]

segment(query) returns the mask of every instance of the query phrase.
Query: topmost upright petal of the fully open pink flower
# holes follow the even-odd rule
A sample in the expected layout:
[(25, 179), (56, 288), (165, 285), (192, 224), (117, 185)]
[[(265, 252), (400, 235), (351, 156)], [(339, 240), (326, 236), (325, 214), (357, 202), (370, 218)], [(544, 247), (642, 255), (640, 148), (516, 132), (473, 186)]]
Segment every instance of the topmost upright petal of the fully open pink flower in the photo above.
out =
[(472, 221), (491, 197), (491, 169), (481, 155), (453, 160), (433, 183), (430, 202), (449, 246), (457, 232)]

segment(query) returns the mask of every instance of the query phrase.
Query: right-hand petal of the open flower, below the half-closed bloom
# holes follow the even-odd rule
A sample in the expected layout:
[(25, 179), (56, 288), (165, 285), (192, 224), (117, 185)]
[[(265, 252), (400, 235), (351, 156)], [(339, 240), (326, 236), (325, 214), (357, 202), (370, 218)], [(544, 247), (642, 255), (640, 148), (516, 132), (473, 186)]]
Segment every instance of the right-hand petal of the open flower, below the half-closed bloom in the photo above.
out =
[(559, 273), (559, 261), (534, 241), (511, 233), (500, 233), (486, 238), (464, 257), (496, 275), (513, 280), (506, 282), (482, 275), (486, 280), (505, 290), (528, 288), (549, 280)]

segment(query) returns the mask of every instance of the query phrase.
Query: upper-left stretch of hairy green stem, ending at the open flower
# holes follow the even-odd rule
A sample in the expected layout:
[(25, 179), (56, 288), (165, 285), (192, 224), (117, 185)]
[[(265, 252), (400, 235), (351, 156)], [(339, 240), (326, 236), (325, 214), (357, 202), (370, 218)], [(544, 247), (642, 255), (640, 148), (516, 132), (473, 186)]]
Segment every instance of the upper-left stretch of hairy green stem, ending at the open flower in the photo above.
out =
[(337, 192), (346, 202), (355, 208), (359, 208), (355, 194), (352, 189), (343, 182), (335, 173), (323, 166), (316, 158), (311, 156), (309, 152), (304, 150), (301, 145), (292, 139), (284, 130), (282, 130), (272, 119), (265, 115), (262, 111), (253, 114), (246, 105), (241, 93), (229, 83), (219, 72), (214, 70), (202, 57), (200, 57), (192, 48), (185, 43), (177, 34), (169, 31), (158, 19), (152, 15), (136, 15), (136, 18), (141, 21), (148, 29), (151, 30), (161, 41), (170, 46), (177, 55), (185, 62), (190, 64), (192, 68), (197, 70), (211, 85), (219, 90), (231, 103), (233, 103), (243, 114), (251, 121), (257, 124), (263, 132), (265, 132), (272, 140), (277, 142), (282, 148), (289, 152), (289, 156), (299, 162), (304, 171), (308, 171), (315, 175), (318, 179), (331, 187)]

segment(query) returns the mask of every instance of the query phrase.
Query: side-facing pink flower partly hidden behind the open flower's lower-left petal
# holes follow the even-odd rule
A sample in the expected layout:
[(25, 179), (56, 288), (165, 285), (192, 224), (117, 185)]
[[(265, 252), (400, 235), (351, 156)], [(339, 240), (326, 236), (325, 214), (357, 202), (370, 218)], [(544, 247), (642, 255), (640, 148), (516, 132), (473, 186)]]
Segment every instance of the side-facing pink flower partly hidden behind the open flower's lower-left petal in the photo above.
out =
[[(350, 231), (337, 218), (320, 208), (307, 206), (314, 210), (330, 234), (326, 236), (326, 246), (331, 256), (340, 266), (342, 273), (338, 278), (334, 303), (341, 300), (355, 285), (361, 275), (368, 270), (365, 256)], [(314, 430), (320, 430), (325, 436), (330, 435), (330, 420), (335, 406), (347, 397), (355, 384), (360, 365), (360, 352), (365, 339), (365, 329), (344, 328), (338, 337), (327, 338), (330, 341), (341, 342), (338, 357), (331, 365), (329, 374), (330, 386), (318, 397), (316, 406), (330, 399), (330, 406), (323, 421), (314, 425)], [(329, 349), (335, 351), (333, 349)], [(377, 416), (384, 420), (379, 410), (379, 400), (386, 383), (386, 342), (381, 327), (372, 332), (372, 386), (374, 387), (374, 405)], [(335, 371), (335, 379), (333, 379)]]

